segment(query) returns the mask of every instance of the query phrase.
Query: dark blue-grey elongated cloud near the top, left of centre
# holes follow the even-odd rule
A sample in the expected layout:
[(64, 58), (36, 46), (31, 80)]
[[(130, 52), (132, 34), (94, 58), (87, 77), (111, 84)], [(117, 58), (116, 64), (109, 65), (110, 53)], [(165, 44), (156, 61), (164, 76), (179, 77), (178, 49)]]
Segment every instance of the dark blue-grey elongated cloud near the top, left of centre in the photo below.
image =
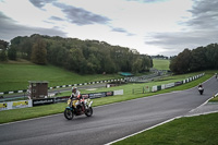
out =
[(88, 24), (107, 24), (110, 19), (94, 14), (81, 8), (75, 8), (73, 5), (66, 5), (64, 3), (55, 2), (53, 5), (61, 9), (65, 14), (68, 21), (76, 25), (88, 25)]

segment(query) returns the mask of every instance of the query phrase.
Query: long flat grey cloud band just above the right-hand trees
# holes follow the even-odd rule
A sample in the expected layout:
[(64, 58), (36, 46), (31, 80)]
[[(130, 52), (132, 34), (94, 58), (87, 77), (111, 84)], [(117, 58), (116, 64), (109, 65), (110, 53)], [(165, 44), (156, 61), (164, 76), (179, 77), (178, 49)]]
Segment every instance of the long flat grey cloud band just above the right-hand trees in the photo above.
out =
[(167, 49), (181, 49), (187, 47), (198, 47), (215, 43), (218, 33), (214, 31), (193, 31), (193, 32), (178, 32), (178, 33), (156, 33), (153, 34), (153, 40), (147, 40), (146, 44), (162, 46)]

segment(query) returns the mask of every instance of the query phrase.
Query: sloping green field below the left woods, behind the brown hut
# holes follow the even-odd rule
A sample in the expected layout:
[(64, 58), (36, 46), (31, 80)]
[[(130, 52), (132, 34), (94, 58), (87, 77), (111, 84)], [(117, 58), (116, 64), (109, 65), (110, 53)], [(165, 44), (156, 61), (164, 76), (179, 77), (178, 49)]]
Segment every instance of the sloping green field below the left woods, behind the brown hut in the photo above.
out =
[(0, 92), (27, 89), (28, 81), (48, 81), (49, 86), (72, 85), (121, 77), (118, 74), (78, 75), (52, 65), (0, 63)]

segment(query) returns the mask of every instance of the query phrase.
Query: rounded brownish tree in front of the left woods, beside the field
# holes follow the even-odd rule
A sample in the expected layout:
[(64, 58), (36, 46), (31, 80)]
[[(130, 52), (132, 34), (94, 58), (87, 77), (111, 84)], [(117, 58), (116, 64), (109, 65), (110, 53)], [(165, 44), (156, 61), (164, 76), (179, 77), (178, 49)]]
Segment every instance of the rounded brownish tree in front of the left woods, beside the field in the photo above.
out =
[(36, 43), (32, 48), (32, 62), (36, 64), (46, 64), (47, 63), (47, 50), (46, 43), (41, 38), (37, 38)]

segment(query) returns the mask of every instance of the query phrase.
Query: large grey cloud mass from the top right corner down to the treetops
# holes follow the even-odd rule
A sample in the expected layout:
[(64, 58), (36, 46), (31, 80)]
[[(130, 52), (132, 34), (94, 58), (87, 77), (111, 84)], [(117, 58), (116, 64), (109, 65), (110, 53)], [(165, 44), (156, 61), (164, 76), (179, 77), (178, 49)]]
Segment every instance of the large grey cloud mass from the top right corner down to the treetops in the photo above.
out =
[(189, 12), (192, 17), (181, 23), (185, 26), (179, 32), (153, 33), (145, 37), (145, 44), (165, 49), (164, 55), (178, 55), (183, 49), (194, 49), (218, 41), (218, 1), (195, 1)]

